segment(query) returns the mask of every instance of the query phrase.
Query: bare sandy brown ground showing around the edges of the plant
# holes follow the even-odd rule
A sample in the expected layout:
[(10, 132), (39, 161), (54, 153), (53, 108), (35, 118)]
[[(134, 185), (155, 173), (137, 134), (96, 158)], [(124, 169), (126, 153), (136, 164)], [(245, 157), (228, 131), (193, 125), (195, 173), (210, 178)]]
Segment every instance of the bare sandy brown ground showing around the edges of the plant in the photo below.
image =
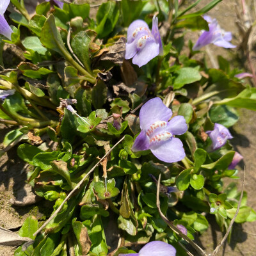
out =
[[(97, 1), (93, 1), (97, 3)], [(209, 0), (202, 0), (198, 6), (198, 10), (209, 3)], [(236, 12), (234, 6), (240, 1), (235, 0), (223, 0), (218, 4), (209, 15), (215, 17), (221, 27), (227, 31), (232, 31), (234, 35), (233, 44), (239, 43), (239, 33), (236, 27)], [(241, 5), (239, 5), (241, 10)], [(195, 42), (198, 35), (194, 32), (190, 34), (191, 40)], [(215, 58), (218, 55), (226, 56), (230, 61), (234, 56), (234, 51), (227, 51), (221, 47), (212, 45), (210, 48), (212, 56)], [(239, 63), (243, 67), (244, 63)], [(244, 163), (246, 166), (246, 180), (245, 190), (248, 193), (248, 205), (256, 209), (255, 200), (255, 186), (256, 186), (256, 112), (243, 109), (240, 111), (241, 118), (239, 122), (232, 129), (234, 139), (231, 141), (235, 149), (240, 152), (244, 157)], [(11, 131), (11, 128), (4, 128), (0, 126), (0, 141), (3, 141), (3, 136), (7, 131)], [(19, 230), (20, 225), (30, 214), (41, 218), (45, 213), (47, 205), (40, 203), (19, 207), (10, 204), (10, 200), (15, 198), (26, 196), (29, 194), (29, 186), (26, 185), (26, 173), (21, 173), (24, 163), (19, 160), (16, 154), (17, 148), (13, 148), (4, 154), (0, 159), (0, 225), (4, 228), (12, 230)], [(240, 172), (240, 176), (243, 176), (243, 171)], [(229, 180), (228, 180), (229, 182)], [(237, 180), (239, 183), (240, 181)], [(241, 188), (241, 184), (239, 185)], [(196, 240), (197, 243), (205, 249), (207, 253), (211, 253), (217, 244), (221, 241), (223, 234), (220, 229), (214, 223), (214, 217), (210, 218), (210, 228), (200, 240)], [(253, 256), (256, 255), (256, 223), (244, 223), (243, 225), (234, 225), (230, 244), (225, 244), (221, 248), (218, 255), (225, 256)], [(14, 248), (0, 246), (0, 256), (13, 255)]]

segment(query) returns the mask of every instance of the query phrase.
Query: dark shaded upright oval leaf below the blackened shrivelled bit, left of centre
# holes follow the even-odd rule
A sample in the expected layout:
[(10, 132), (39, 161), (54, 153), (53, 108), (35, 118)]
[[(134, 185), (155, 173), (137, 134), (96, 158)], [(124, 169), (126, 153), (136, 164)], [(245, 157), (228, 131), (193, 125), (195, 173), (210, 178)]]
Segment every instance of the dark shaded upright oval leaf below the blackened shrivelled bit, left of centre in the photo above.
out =
[[(110, 3), (110, 2), (108, 2)], [(108, 88), (104, 81), (100, 80), (92, 88), (92, 104), (95, 109), (102, 108), (107, 101)]]

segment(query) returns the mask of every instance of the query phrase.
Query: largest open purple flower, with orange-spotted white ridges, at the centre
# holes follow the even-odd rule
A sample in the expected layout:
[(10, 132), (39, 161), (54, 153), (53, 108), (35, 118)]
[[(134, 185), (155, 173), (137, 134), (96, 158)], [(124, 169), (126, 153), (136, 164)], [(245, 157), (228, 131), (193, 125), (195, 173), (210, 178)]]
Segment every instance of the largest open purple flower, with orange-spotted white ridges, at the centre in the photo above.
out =
[(161, 161), (173, 163), (182, 160), (186, 154), (182, 142), (173, 135), (184, 134), (188, 125), (184, 116), (172, 116), (160, 98), (148, 100), (140, 109), (141, 132), (134, 141), (132, 150), (148, 150)]

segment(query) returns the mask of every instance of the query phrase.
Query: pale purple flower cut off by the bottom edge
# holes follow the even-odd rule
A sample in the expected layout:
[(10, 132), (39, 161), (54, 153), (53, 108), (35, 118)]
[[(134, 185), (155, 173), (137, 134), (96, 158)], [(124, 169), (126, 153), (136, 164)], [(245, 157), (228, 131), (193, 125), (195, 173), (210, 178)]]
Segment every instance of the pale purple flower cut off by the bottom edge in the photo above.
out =
[(175, 256), (176, 249), (162, 241), (152, 241), (143, 246), (139, 253), (119, 254), (118, 256)]

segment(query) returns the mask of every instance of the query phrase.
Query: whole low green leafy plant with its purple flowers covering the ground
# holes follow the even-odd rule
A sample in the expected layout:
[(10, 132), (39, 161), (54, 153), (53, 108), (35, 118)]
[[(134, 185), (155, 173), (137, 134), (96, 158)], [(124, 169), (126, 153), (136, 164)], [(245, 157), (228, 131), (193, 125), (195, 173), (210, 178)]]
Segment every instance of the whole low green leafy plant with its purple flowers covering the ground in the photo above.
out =
[[(235, 47), (202, 16), (221, 0), (197, 12), (200, 0), (108, 1), (95, 18), (88, 3), (45, 1), (30, 17), (23, 0), (11, 1), (16, 26), (3, 1), (0, 45), (16, 45), (24, 61), (9, 67), (1, 54), (0, 122), (13, 125), (1, 153), (19, 144), (29, 184), (54, 202), (42, 227), (25, 221), (19, 235), (34, 242), (15, 255), (129, 255), (147, 243), (138, 255), (186, 255), (209, 214), (223, 232), (237, 207), (236, 223), (256, 220), (246, 194), (240, 206), (236, 184), (223, 185), (239, 179), (243, 158), (228, 128), (236, 108), (256, 110), (256, 90), (225, 58), (219, 68), (194, 58), (207, 44)], [(204, 30), (195, 44), (188, 29)]]

